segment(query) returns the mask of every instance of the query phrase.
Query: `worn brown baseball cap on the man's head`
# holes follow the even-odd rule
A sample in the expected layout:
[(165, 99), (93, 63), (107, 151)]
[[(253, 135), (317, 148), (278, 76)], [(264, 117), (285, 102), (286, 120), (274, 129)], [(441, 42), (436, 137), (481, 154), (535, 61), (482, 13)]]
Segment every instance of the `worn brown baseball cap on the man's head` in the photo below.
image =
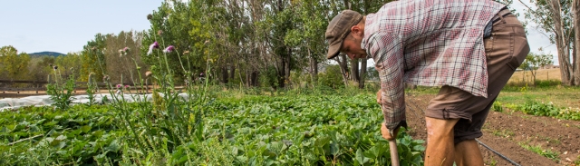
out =
[(351, 27), (359, 24), (361, 20), (362, 15), (352, 10), (343, 10), (340, 14), (334, 16), (333, 20), (328, 23), (324, 33), (324, 37), (329, 44), (326, 59), (333, 59), (334, 56), (338, 55), (346, 34), (350, 33)]

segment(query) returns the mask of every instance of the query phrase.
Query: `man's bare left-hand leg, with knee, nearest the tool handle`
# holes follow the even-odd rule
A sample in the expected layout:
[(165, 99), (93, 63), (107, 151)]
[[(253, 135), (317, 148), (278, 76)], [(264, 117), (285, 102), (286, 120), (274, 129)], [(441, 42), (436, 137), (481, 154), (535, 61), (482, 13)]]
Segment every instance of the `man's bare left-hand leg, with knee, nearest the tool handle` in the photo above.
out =
[(425, 165), (451, 166), (455, 161), (453, 126), (459, 119), (441, 120), (425, 117), (427, 124), (427, 150)]

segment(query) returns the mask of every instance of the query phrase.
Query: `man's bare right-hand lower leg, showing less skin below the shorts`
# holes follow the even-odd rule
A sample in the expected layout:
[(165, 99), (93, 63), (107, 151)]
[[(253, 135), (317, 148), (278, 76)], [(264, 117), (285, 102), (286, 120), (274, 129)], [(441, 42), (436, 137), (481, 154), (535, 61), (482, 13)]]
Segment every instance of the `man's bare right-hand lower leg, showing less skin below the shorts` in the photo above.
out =
[(455, 145), (455, 163), (458, 166), (483, 165), (483, 156), (481, 156), (478, 142), (475, 139), (459, 142)]

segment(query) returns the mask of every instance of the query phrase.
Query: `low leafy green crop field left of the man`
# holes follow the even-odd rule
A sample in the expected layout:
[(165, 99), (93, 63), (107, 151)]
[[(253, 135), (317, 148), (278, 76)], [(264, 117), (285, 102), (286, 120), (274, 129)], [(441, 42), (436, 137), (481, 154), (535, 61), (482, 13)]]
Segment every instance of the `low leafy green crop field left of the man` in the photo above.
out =
[[(171, 99), (171, 96), (166, 96)], [(372, 93), (244, 95), (0, 112), (1, 165), (385, 165)], [(176, 100), (177, 101), (177, 100)], [(403, 165), (423, 141), (399, 136)]]

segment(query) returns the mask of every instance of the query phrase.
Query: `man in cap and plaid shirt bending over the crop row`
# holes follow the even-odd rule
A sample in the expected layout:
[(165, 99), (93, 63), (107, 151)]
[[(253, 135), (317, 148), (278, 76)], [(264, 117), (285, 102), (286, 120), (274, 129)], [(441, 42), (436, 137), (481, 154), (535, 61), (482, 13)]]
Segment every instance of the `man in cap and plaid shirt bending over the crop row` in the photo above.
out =
[(425, 112), (425, 165), (483, 165), (475, 139), (529, 52), (516, 16), (488, 0), (395, 1), (366, 16), (345, 10), (325, 37), (328, 59), (342, 52), (374, 60), (387, 140), (406, 124), (403, 82), (441, 86)]

